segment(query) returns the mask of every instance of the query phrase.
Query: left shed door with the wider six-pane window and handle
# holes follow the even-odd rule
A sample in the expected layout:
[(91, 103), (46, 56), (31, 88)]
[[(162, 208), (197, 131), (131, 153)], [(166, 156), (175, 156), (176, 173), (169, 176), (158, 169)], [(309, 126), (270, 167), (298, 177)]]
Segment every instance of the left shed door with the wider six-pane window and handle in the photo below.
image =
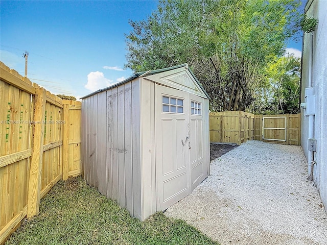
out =
[(165, 210), (191, 192), (189, 93), (155, 86), (157, 210)]

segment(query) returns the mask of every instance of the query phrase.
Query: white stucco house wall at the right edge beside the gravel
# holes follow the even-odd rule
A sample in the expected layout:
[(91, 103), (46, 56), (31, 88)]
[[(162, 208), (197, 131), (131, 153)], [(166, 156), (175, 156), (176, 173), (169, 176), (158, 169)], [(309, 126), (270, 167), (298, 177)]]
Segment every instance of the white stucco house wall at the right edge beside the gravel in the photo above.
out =
[[(319, 23), (316, 31), (306, 33), (303, 40), (301, 102), (305, 102), (305, 88), (308, 87), (310, 35), (313, 35), (312, 86), (316, 103), (314, 138), (317, 140), (313, 179), (327, 211), (327, 1), (309, 1), (306, 11)], [(301, 112), (301, 145), (308, 159), (308, 117), (304, 116), (304, 110)]]

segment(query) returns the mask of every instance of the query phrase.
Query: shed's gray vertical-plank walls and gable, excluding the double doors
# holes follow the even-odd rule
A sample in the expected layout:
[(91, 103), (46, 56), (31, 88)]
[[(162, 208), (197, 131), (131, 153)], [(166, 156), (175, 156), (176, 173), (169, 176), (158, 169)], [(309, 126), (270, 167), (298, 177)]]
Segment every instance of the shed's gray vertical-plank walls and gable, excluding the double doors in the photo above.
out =
[[(174, 72), (184, 70), (180, 68)], [(154, 80), (135, 78), (89, 95), (82, 101), (84, 178), (141, 220), (157, 211), (157, 204), (160, 203), (157, 203), (155, 103), (157, 100), (160, 102), (161, 97), (155, 97), (156, 81), (205, 97), (196, 84), (191, 84), (195, 90), (192, 90), (192, 86), (181, 86), (188, 82), (185, 76), (177, 79), (176, 83), (164, 81), (160, 79), (161, 76), (152, 75)], [(201, 149), (203, 147), (203, 162), (206, 165), (203, 179), (209, 172), (207, 108), (208, 100), (205, 99), (201, 125), (204, 134)]]

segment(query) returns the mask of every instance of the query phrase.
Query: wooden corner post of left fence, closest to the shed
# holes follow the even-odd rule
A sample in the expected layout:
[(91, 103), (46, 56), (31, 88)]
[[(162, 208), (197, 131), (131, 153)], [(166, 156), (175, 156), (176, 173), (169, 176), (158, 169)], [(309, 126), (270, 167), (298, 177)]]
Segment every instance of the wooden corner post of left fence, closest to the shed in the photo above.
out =
[(68, 179), (68, 171), (69, 171), (69, 165), (68, 165), (69, 105), (65, 100), (63, 100), (62, 103), (63, 103), (63, 120), (65, 121), (63, 124), (63, 142), (62, 142), (63, 143), (62, 179), (66, 180)]

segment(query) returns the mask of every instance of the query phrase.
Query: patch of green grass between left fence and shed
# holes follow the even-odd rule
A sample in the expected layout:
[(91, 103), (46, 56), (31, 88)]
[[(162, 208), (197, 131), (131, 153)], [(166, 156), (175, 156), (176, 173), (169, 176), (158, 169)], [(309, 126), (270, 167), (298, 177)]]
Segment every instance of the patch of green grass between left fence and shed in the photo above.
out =
[(157, 212), (144, 222), (88, 186), (59, 181), (6, 244), (218, 244), (180, 219)]

